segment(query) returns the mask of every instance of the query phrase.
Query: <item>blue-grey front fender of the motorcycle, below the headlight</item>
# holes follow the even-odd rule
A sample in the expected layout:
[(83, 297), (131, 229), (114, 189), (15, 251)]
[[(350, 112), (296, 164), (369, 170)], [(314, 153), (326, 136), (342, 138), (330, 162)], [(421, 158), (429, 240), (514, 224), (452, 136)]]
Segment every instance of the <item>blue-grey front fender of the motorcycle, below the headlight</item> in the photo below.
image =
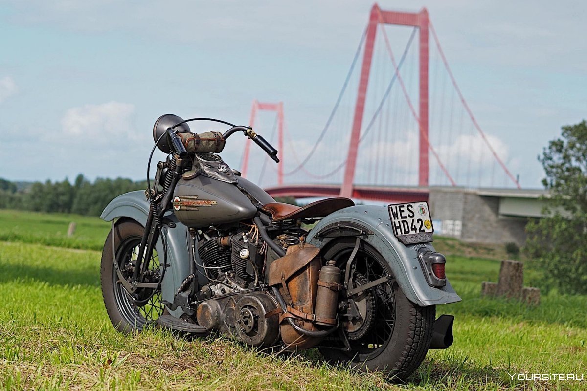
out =
[[(132, 219), (144, 227), (147, 223), (147, 215), (149, 215), (149, 202), (145, 199), (144, 192), (134, 191), (114, 198), (104, 208), (100, 218), (108, 222), (120, 218)], [(187, 240), (187, 227), (178, 222), (173, 213), (165, 215), (165, 219), (174, 222), (176, 226), (170, 228), (163, 225), (163, 233), (167, 243), (167, 264), (170, 267), (167, 268), (161, 282), (161, 293), (163, 294), (163, 300), (173, 302), (177, 288), (185, 280), (185, 277), (190, 274), (190, 248)], [(157, 253), (160, 254), (160, 261), (163, 263), (163, 244), (161, 240), (157, 240), (156, 249)], [(201, 264), (199, 257), (196, 262)], [(177, 317), (182, 313), (179, 307), (177, 310), (170, 312)]]

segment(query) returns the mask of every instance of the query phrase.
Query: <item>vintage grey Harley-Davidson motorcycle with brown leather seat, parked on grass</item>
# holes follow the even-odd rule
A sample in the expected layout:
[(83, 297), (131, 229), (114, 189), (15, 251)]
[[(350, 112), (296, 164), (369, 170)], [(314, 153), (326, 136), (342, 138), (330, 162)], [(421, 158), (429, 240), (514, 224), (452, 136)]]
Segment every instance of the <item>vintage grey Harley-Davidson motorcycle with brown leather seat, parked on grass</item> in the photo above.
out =
[[(197, 120), (231, 128), (195, 134), (187, 123)], [(112, 222), (102, 293), (117, 330), (158, 325), (276, 351), (318, 347), (330, 362), (394, 379), (452, 344), (453, 317), (436, 319), (436, 305), (461, 299), (431, 246), (426, 202), (275, 202), (218, 155), (234, 134), (279, 161), (251, 127), (156, 121), (149, 166), (156, 147), (167, 158), (154, 183), (147, 168), (147, 190), (102, 213)]]

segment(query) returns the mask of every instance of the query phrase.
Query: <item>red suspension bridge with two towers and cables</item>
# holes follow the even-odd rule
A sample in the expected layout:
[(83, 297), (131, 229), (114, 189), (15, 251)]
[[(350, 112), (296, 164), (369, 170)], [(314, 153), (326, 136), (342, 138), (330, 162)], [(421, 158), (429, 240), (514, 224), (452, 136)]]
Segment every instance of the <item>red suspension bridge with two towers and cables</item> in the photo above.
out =
[[(400, 38), (390, 39), (390, 25), (411, 27), (399, 57), (392, 42)], [(249, 179), (258, 175), (272, 196), (401, 202), (426, 199), (431, 185), (520, 188), (504, 162), (507, 147), (485, 134), (465, 101), (426, 8), (410, 13), (373, 5), (336, 103), (312, 144), (292, 140), (282, 102), (253, 101), (249, 123), (266, 132), (259, 118), (267, 111), (275, 115), (271, 142), (281, 161), (275, 168), (268, 158), (252, 156), (249, 140), (241, 169)]]

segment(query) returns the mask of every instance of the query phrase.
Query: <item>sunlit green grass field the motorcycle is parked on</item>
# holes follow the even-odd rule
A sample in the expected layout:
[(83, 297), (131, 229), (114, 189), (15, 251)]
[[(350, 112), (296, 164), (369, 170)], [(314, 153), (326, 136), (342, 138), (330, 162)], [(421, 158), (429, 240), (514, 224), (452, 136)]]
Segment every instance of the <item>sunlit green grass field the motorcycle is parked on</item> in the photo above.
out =
[[(65, 235), (70, 221), (73, 238)], [(96, 251), (108, 229), (96, 218), (0, 211), (0, 389), (587, 389), (587, 297), (549, 293), (538, 307), (481, 299), (481, 281), (497, 281), (500, 263), (475, 257), (447, 263), (463, 302), (437, 314), (456, 315), (454, 345), (431, 351), (405, 385), (333, 368), (316, 350), (271, 356), (224, 338), (117, 334)], [(456, 241), (437, 243), (467, 253)], [(533, 382), (508, 373), (586, 379)]]

